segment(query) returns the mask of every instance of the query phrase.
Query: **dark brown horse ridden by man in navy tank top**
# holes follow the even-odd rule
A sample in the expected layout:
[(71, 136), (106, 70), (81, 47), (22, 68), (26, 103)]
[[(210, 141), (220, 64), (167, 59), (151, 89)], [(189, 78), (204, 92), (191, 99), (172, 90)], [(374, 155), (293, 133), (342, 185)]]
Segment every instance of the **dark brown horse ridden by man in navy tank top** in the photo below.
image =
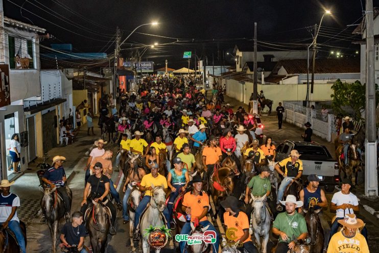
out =
[(311, 239), (310, 245), (310, 253), (321, 253), (324, 248), (324, 231), (321, 226), (320, 219), (318, 217), (318, 213), (322, 209), (302, 209), (305, 213), (305, 222), (308, 231), (308, 236)]

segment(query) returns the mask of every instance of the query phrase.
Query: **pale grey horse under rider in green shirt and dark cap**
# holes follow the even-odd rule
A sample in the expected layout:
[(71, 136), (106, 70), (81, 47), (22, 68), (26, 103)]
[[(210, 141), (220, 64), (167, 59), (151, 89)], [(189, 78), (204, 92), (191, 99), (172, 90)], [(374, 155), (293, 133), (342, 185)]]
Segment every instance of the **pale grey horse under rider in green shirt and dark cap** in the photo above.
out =
[(266, 207), (266, 195), (262, 197), (254, 197), (251, 194), (253, 199), (253, 209), (252, 214), (252, 224), (254, 230), (255, 241), (257, 243), (257, 248), (260, 249), (260, 237), (263, 237), (262, 241), (262, 253), (267, 253), (267, 243), (269, 242), (269, 232), (271, 225), (271, 216)]

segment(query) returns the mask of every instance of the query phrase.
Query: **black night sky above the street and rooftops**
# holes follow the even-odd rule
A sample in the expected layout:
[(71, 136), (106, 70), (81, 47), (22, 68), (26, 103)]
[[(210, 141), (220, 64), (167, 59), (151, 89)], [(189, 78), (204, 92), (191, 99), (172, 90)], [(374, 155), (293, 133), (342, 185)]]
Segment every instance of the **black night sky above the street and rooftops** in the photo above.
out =
[[(324, 9), (333, 16), (323, 19), (318, 57), (330, 57), (330, 51), (354, 57), (359, 47), (351, 41), (359, 37), (352, 37), (355, 27), (346, 25), (361, 22), (365, 9), (363, 0), (3, 0), (3, 4), (5, 16), (45, 28), (55, 36), (42, 44), (72, 43), (74, 52), (112, 54), (117, 26), (124, 40), (138, 25), (158, 21), (158, 26), (141, 27), (137, 32), (170, 38), (134, 33), (121, 47), (122, 56), (130, 58), (137, 50), (145, 51), (146, 45), (164, 44), (148, 47), (142, 56), (154, 61), (156, 68), (164, 66), (165, 59), (171, 67), (186, 66), (183, 52), (194, 54), (195, 50), (199, 58), (208, 57), (208, 64), (212, 54), (216, 62), (222, 61), (224, 52), (226, 64), (231, 64), (233, 59), (226, 52), (231, 53), (235, 44), (253, 48), (254, 21), (258, 51), (305, 50), (313, 33), (307, 27), (320, 22)], [(379, 0), (374, 0), (375, 6), (379, 7)]]

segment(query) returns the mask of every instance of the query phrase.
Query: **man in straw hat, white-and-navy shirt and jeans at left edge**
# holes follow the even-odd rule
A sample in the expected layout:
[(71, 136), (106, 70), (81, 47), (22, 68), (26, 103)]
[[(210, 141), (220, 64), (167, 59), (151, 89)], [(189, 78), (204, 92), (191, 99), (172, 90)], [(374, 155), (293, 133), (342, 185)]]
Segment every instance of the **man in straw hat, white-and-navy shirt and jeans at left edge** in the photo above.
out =
[[(10, 192), (13, 182), (3, 179), (0, 182), (2, 194), (0, 194), (0, 225), (2, 229), (9, 227), (16, 236), (16, 240), (22, 253), (26, 253), (26, 240), (22, 234), (20, 220), (17, 217), (17, 207), (20, 206), (20, 198)], [(5, 252), (5, 250), (4, 250)]]

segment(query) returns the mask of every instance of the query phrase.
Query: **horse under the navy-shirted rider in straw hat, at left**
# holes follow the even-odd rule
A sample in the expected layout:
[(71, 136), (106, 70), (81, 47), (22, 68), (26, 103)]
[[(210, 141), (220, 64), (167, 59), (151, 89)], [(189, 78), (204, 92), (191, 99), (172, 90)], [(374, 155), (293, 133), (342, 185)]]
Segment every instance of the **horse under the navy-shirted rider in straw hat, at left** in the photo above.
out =
[[(68, 197), (72, 201), (73, 199), (72, 191), (67, 186), (66, 186), (66, 191), (67, 191)], [(57, 188), (54, 187), (53, 190), (51, 188), (43, 189), (43, 197), (41, 199), (40, 204), (41, 204), (42, 213), (44, 217), (46, 218), (46, 223), (48, 223), (48, 226), (50, 229), (50, 235), (52, 238), (52, 252), (56, 253), (59, 220), (65, 214), (64, 203), (63, 203), (62, 198), (58, 195)], [(68, 220), (66, 220), (66, 222), (68, 222)]]

